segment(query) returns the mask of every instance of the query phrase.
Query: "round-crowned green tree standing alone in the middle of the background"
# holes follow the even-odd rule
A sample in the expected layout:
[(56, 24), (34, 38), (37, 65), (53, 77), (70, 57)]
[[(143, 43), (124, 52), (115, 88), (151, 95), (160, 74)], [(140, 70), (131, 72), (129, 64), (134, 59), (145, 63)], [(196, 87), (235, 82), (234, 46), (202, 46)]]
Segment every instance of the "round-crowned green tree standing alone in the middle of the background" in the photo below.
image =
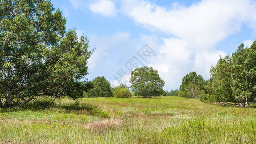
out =
[(137, 96), (161, 96), (164, 81), (152, 67), (136, 68), (131, 72), (131, 89)]

